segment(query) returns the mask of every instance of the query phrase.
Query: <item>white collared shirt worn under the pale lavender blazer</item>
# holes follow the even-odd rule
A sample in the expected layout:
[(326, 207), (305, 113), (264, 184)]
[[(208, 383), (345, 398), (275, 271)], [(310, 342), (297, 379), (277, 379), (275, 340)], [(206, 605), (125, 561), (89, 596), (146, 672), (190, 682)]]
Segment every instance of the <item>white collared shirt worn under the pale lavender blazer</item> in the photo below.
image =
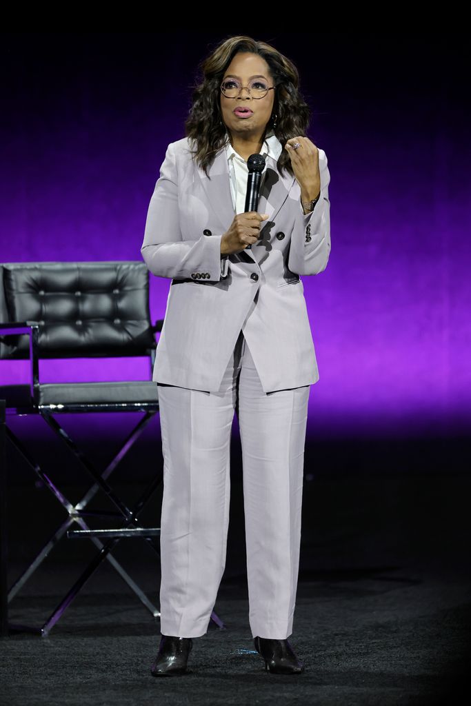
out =
[[(278, 137), (271, 131), (263, 142), (263, 147), (260, 154), (263, 157), (271, 157), (278, 162), (282, 146)], [(229, 162), (229, 181), (232, 194), (232, 205), (234, 206), (234, 214), (244, 213), (245, 199), (247, 193), (247, 177), (249, 176), (249, 167), (244, 157), (241, 157), (232, 147), (230, 142), (226, 145), (227, 161)], [(263, 188), (267, 170), (267, 162), (263, 167), (260, 189)], [(227, 276), (228, 256), (221, 256), (221, 277)]]

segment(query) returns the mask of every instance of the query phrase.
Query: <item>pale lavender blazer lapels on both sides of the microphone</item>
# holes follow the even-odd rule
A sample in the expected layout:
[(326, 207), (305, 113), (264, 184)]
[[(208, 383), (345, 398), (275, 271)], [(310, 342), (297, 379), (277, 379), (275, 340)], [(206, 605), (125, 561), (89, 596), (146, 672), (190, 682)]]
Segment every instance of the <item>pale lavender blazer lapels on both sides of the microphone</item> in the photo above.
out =
[[(241, 259), (246, 260), (245, 255), (249, 258), (249, 261), (258, 263), (263, 253), (270, 249), (268, 243), (272, 237), (275, 217), (283, 203), (285, 203), (288, 193), (290, 193), (290, 189), (294, 184), (295, 178), (289, 172), (282, 177), (276, 164), (277, 162), (273, 157), (267, 157), (266, 174), (258, 198), (257, 212), (268, 213), (268, 218), (263, 221), (258, 241), (248, 250), (235, 253), (237, 256), (243, 256)], [(226, 232), (234, 220), (235, 210), (232, 203), (229, 163), (225, 147), (222, 147), (217, 152), (213, 164), (208, 169), (208, 174), (209, 177), (198, 166), (198, 175), (208, 199), (208, 204), (217, 215), (224, 232)]]

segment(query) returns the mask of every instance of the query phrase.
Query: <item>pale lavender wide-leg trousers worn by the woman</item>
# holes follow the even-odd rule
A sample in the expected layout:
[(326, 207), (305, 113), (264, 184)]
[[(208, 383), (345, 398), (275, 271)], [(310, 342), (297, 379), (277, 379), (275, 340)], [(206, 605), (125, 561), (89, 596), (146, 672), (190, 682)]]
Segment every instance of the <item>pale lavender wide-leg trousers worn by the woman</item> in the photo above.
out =
[(198, 638), (208, 630), (225, 569), (229, 447), (237, 407), (249, 626), (252, 637), (289, 637), (299, 573), (310, 385), (264, 393), (241, 330), (217, 393), (161, 383), (157, 388), (164, 457), (162, 635)]

